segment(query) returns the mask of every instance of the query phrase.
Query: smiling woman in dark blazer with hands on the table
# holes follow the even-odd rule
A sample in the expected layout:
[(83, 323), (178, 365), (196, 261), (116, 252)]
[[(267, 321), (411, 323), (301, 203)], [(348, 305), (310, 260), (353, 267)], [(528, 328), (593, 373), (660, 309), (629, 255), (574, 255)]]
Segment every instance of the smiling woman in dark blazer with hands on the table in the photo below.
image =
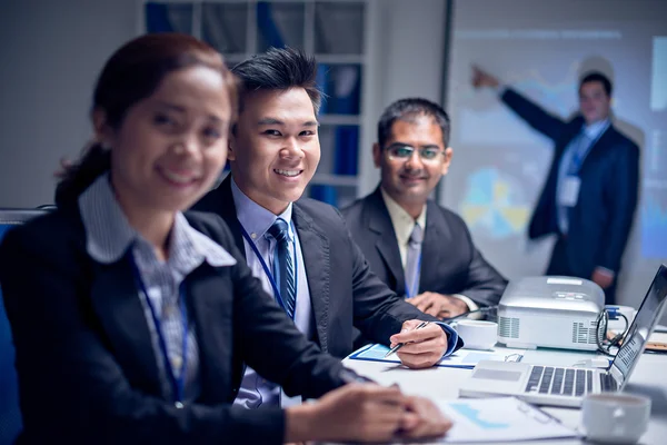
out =
[[(448, 428), (397, 388), (338, 388), (357, 376), (261, 290), (225, 224), (181, 212), (225, 165), (235, 85), (217, 51), (188, 36), (143, 36), (107, 62), (96, 140), (63, 172), (58, 210), (0, 247), (19, 443), (378, 441)], [(286, 409), (232, 407), (243, 363), (289, 395), (331, 393)]]

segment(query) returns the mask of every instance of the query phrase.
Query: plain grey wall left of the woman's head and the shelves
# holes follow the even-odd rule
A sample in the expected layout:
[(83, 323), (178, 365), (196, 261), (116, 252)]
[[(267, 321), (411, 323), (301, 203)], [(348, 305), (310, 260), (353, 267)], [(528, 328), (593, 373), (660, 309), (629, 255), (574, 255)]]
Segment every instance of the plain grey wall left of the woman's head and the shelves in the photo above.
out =
[(135, 0), (3, 1), (0, 13), (0, 207), (52, 202), (60, 159), (90, 138), (92, 86), (136, 33)]

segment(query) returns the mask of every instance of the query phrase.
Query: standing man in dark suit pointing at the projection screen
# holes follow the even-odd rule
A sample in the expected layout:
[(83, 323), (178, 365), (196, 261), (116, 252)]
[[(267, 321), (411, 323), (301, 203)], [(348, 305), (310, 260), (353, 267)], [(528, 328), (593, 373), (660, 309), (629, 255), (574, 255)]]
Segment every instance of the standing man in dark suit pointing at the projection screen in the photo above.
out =
[(590, 279), (616, 303), (639, 186), (639, 148), (611, 123), (611, 82), (590, 72), (579, 82), (579, 112), (565, 121), (474, 68), (472, 85), (490, 87), (500, 100), (555, 142), (554, 158), (530, 219), (528, 236), (555, 234), (547, 275)]

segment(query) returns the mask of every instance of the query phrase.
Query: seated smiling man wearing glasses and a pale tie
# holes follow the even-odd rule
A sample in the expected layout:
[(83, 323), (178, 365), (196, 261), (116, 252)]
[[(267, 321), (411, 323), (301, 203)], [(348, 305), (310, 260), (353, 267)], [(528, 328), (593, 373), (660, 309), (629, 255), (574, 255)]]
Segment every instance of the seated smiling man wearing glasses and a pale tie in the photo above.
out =
[(431, 191), (451, 164), (449, 117), (426, 99), (391, 103), (372, 147), (380, 185), (342, 210), (371, 270), (427, 314), (450, 318), (498, 303), (507, 281), (466, 222)]

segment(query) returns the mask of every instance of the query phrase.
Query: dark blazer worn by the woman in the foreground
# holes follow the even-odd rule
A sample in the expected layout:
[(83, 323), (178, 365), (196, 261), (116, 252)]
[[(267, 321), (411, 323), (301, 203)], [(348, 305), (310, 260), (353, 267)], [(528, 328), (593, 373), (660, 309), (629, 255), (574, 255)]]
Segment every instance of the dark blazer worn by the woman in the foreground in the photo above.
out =
[(226, 225), (213, 215), (188, 218), (238, 263), (203, 263), (186, 278), (201, 394), (181, 409), (161, 395), (127, 255), (111, 265), (92, 260), (74, 209), (7, 235), (0, 283), (17, 349), (19, 443), (281, 443), (279, 408), (230, 405), (243, 362), (292, 395), (319, 396), (342, 384), (340, 362), (321, 354), (262, 291)]

